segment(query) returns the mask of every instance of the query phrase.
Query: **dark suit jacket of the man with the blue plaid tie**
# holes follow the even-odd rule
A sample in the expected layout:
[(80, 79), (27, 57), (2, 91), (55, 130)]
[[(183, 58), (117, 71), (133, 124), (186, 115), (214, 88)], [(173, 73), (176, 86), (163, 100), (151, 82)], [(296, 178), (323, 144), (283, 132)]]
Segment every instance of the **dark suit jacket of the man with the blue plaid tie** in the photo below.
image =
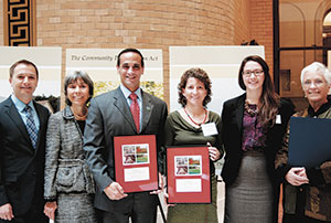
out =
[(36, 149), (12, 99), (0, 103), (0, 205), (10, 203), (14, 215), (25, 214), (31, 205), (42, 212), (44, 205), (45, 134), (50, 113), (40, 104), (33, 105), (40, 120)]

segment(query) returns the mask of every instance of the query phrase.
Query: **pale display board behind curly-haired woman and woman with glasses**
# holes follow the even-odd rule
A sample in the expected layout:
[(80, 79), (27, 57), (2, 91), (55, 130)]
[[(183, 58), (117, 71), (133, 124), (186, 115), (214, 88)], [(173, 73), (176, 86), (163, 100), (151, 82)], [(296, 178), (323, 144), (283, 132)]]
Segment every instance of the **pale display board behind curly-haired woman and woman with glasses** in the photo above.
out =
[(207, 108), (221, 114), (223, 103), (243, 93), (238, 70), (248, 55), (265, 57), (264, 46), (170, 46), (170, 112), (181, 108), (178, 84), (192, 67), (203, 68), (212, 81), (212, 102)]

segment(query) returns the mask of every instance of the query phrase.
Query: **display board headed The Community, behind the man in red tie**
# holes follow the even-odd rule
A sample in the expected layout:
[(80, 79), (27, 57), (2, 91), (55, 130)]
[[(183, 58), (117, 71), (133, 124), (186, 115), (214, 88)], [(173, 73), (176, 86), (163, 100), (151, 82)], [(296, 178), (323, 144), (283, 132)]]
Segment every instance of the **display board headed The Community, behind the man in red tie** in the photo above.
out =
[[(66, 73), (85, 71), (95, 84), (94, 95), (99, 95), (119, 86), (117, 74), (117, 55), (122, 49), (67, 49)], [(145, 72), (141, 87), (148, 93), (163, 98), (163, 60), (162, 50), (140, 50)]]

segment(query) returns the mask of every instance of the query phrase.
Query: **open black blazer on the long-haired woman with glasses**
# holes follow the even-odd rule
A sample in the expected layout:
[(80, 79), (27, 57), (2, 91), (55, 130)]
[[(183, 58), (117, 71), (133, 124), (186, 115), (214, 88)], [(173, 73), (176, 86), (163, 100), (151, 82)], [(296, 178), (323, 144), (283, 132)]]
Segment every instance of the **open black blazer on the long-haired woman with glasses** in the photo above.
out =
[[(222, 178), (227, 185), (232, 184), (239, 170), (242, 163), (243, 150), (243, 116), (246, 94), (229, 99), (224, 103), (222, 110), (223, 121), (223, 142), (225, 148), (225, 163), (222, 170)], [(275, 124), (267, 131), (266, 148), (264, 153), (267, 159), (267, 172), (271, 182), (275, 182), (275, 156), (280, 149), (282, 137), (287, 129), (290, 116), (293, 114), (293, 105), (291, 102), (280, 99), (278, 114), (281, 117), (281, 124)], [(276, 185), (276, 183), (274, 183)]]

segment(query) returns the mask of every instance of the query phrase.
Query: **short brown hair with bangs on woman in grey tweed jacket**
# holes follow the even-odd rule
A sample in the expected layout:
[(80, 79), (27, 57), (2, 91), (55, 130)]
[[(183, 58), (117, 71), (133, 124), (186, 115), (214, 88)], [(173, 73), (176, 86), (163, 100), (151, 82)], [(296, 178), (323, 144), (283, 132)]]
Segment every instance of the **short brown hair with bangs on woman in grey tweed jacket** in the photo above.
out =
[(65, 104), (68, 106), (72, 105), (72, 102), (67, 98), (67, 87), (70, 84), (76, 82), (78, 78), (82, 78), (85, 84), (88, 85), (88, 93), (89, 93), (89, 98), (86, 100), (85, 104), (87, 104), (92, 96), (93, 96), (93, 91), (94, 91), (94, 84), (88, 74), (84, 71), (74, 71), (65, 76), (64, 79), (64, 95), (65, 95)]

